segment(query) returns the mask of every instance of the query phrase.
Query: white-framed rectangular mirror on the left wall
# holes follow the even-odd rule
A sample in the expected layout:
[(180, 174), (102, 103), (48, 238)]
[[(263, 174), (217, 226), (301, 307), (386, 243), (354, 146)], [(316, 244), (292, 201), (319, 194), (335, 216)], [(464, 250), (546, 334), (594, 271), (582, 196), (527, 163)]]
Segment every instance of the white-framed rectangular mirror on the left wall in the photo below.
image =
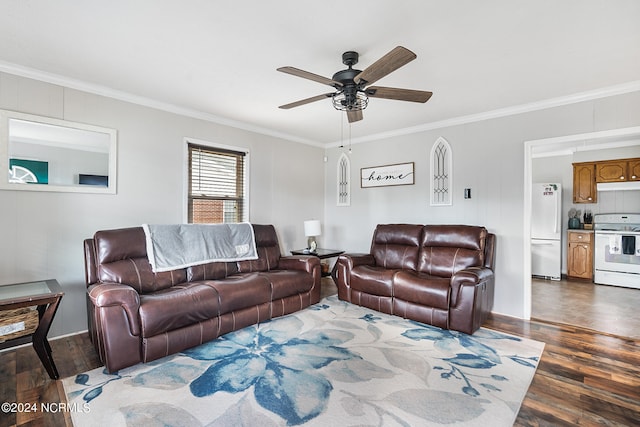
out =
[(0, 110), (0, 189), (116, 193), (114, 129)]

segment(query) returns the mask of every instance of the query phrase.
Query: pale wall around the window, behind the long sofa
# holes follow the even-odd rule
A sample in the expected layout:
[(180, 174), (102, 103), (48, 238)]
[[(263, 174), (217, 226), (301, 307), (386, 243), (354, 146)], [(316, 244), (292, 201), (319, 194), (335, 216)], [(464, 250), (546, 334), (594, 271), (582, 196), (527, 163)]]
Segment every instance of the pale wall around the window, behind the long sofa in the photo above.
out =
[(82, 241), (101, 229), (183, 222), (184, 138), (250, 151), (250, 221), (282, 251), (323, 219), (324, 150), (0, 73), (0, 108), (118, 131), (116, 195), (0, 190), (0, 285), (55, 278), (65, 296), (50, 337), (87, 329)]

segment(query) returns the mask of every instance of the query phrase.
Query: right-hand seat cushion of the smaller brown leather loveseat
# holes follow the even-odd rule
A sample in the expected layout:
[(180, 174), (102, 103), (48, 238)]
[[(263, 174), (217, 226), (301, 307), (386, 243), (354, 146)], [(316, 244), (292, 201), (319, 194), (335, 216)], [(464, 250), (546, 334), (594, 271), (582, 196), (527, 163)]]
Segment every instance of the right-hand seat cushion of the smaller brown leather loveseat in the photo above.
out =
[(449, 309), (450, 280), (413, 271), (399, 271), (393, 280), (393, 296), (425, 307)]

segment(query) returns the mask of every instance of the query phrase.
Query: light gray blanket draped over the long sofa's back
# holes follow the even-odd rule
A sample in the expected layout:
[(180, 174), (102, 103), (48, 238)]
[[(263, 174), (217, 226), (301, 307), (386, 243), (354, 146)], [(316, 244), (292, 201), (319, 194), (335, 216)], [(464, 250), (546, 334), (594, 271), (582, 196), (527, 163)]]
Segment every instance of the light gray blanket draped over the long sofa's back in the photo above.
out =
[(237, 224), (143, 224), (154, 272), (209, 262), (257, 259), (253, 227)]

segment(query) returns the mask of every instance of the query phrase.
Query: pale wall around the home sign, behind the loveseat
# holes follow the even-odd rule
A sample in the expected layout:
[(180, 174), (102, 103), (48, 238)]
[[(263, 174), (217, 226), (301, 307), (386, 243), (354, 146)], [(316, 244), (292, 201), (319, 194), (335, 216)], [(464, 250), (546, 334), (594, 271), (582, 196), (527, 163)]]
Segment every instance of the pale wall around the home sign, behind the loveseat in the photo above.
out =
[[(430, 105), (417, 108), (429, 108)], [(350, 207), (336, 206), (336, 164), (341, 148), (327, 151), (325, 245), (368, 252), (378, 223), (463, 223), (497, 234), (494, 311), (525, 317), (524, 142), (640, 125), (640, 93), (424, 131), (353, 145)], [(361, 123), (365, 123), (363, 121)], [(353, 136), (358, 126), (353, 125)], [(429, 152), (438, 139), (453, 151), (453, 205), (429, 206)], [(362, 189), (362, 167), (415, 162), (416, 184)], [(463, 198), (463, 189), (472, 198)]]

